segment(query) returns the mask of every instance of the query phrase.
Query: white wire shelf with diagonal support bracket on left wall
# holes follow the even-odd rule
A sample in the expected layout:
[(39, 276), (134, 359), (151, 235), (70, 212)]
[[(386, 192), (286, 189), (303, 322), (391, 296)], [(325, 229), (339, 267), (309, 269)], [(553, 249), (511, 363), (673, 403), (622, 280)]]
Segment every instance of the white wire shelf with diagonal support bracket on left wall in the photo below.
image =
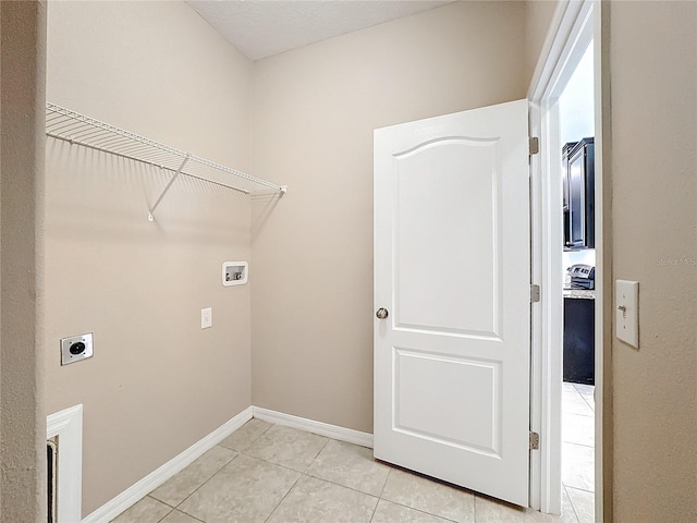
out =
[(282, 196), (288, 190), (286, 185), (261, 180), (51, 102), (46, 102), (46, 135), (172, 171), (172, 179), (150, 209), (150, 221), (152, 212), (179, 174), (205, 180), (244, 194), (271, 191)]

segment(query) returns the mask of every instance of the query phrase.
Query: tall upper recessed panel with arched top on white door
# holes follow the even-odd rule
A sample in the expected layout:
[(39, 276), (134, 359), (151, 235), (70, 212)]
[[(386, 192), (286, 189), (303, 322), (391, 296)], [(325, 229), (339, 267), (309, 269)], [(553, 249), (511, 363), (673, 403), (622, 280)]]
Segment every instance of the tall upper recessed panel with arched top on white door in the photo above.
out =
[[(395, 156), (399, 327), (496, 336), (496, 148), (491, 139), (445, 138)], [(462, 205), (464, 197), (480, 204)], [(456, 226), (443, 227), (448, 221)], [(473, 292), (485, 302), (468, 300)]]

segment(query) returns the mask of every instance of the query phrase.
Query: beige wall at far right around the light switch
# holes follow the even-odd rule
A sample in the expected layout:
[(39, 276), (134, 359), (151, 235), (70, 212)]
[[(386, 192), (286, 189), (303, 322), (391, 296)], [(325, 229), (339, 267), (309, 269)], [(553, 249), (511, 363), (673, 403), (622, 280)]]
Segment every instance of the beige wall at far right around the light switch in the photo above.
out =
[(613, 276), (640, 317), (612, 344), (614, 521), (697, 521), (697, 3), (610, 16)]

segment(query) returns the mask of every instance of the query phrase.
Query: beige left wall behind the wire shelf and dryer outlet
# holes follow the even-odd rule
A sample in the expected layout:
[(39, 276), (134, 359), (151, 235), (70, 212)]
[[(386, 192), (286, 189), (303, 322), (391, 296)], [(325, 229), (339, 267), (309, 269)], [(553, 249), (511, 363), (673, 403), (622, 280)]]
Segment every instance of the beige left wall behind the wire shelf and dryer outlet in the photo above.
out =
[[(47, 98), (249, 167), (252, 63), (183, 2), (51, 2)], [(47, 410), (84, 404), (83, 515), (250, 404), (250, 285), (220, 282), (250, 256), (248, 198), (180, 179), (150, 223), (168, 179), (47, 141)], [(87, 331), (94, 358), (61, 367)]]

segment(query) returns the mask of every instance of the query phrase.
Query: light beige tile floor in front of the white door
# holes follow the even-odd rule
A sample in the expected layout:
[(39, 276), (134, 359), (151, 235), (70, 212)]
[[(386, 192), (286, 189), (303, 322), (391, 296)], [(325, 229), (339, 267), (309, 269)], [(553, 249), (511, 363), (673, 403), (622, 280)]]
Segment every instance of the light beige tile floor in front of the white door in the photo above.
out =
[[(564, 384), (573, 415), (584, 415), (572, 392)], [(578, 513), (592, 484), (565, 465), (564, 485), (564, 514), (542, 514), (376, 462), (364, 447), (252, 419), (113, 523), (592, 522)]]

